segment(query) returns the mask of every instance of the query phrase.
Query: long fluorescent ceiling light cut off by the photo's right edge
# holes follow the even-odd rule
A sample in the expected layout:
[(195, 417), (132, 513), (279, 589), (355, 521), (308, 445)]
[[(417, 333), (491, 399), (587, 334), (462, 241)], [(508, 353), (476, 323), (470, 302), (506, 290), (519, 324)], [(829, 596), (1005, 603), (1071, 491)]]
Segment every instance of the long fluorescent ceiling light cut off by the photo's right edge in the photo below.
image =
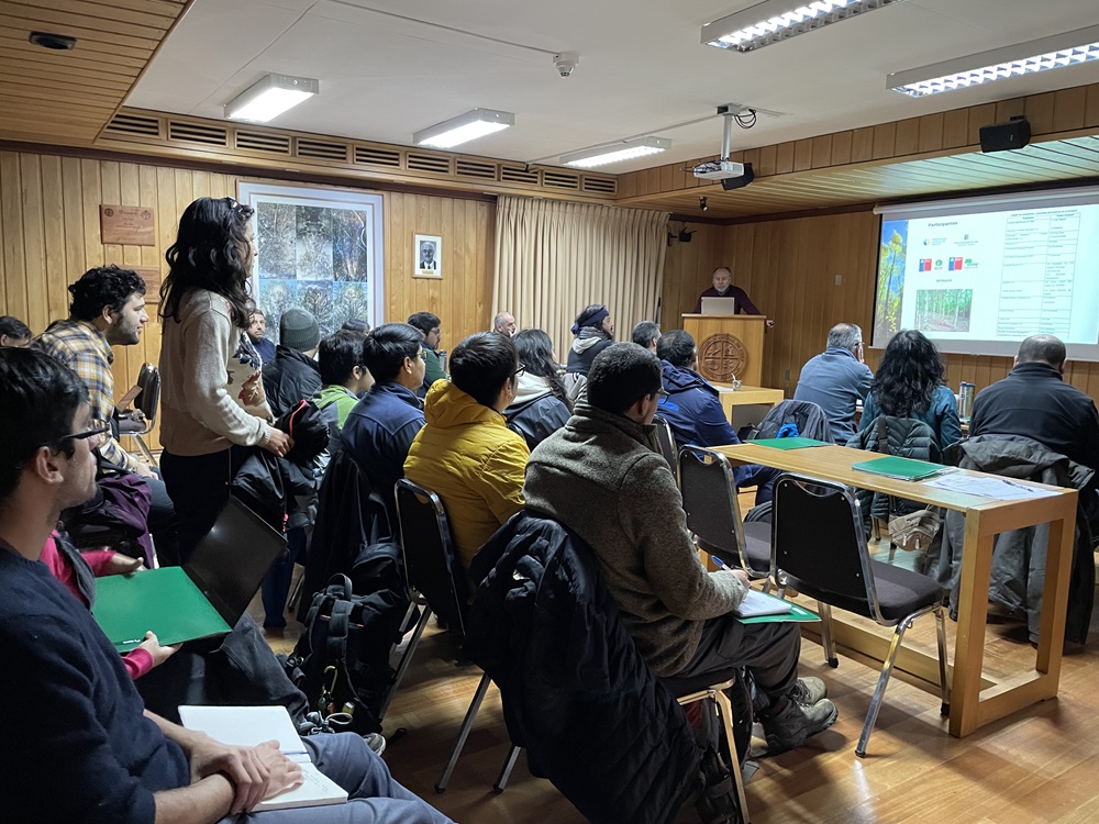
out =
[(913, 98), (1099, 59), (1099, 25), (898, 71), (886, 88)]

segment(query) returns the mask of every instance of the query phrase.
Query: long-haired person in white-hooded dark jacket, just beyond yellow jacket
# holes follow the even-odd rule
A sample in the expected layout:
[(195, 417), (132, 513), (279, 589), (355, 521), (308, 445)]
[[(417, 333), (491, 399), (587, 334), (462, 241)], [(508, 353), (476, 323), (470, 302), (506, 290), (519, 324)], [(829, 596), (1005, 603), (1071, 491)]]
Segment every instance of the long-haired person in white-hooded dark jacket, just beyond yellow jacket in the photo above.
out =
[(512, 335), (519, 363), (519, 385), (511, 404), (503, 411), (508, 428), (523, 436), (533, 449), (565, 425), (573, 413), (568, 392), (557, 372), (553, 341), (540, 329), (524, 329)]

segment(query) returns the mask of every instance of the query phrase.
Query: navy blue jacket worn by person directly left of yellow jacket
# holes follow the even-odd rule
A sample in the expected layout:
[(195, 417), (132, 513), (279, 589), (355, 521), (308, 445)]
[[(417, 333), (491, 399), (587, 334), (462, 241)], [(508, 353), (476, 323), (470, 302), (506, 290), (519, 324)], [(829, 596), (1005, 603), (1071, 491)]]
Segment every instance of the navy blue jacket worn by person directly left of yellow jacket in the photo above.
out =
[(423, 402), (400, 383), (375, 383), (348, 413), (341, 435), (370, 488), (393, 511), (393, 485), (404, 477), (404, 459), (415, 434), (423, 428)]

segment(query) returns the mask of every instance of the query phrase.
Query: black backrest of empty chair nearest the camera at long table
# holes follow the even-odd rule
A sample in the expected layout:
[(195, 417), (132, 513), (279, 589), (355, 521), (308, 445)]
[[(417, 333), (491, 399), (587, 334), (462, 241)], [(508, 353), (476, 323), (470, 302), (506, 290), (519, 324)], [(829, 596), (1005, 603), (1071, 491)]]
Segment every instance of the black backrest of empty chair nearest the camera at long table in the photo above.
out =
[[(775, 483), (771, 575), (787, 574), (885, 623), (858, 500), (841, 483), (781, 475)], [(778, 579), (780, 580), (780, 579)]]

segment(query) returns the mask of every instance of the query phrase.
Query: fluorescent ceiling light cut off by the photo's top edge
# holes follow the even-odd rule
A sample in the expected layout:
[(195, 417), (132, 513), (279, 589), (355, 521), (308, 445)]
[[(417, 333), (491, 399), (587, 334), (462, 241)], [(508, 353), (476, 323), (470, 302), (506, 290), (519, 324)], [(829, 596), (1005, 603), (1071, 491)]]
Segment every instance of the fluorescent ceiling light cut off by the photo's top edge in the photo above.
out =
[(702, 43), (753, 52), (901, 0), (767, 0), (702, 26)]

